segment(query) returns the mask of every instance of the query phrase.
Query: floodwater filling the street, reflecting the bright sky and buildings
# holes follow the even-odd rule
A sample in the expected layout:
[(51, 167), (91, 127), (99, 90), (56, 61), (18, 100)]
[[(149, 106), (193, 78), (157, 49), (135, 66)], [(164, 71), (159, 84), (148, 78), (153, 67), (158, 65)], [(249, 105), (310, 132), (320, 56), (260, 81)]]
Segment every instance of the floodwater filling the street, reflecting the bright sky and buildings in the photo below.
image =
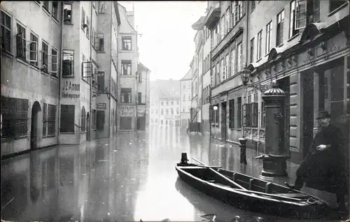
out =
[(1, 165), (1, 217), (8, 221), (202, 221), (202, 215), (216, 214), (216, 221), (276, 221), (225, 205), (178, 178), (174, 165), (183, 151), (188, 158), (238, 170), (238, 149), (211, 146), (208, 137), (180, 133), (170, 126), (151, 128), (148, 135), (122, 133), (10, 158)]

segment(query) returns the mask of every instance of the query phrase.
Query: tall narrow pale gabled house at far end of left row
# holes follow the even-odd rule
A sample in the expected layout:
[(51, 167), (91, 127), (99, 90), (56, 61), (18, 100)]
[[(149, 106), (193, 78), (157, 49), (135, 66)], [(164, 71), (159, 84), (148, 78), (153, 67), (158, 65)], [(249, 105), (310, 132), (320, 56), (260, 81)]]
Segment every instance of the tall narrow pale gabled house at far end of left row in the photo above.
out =
[(119, 10), (118, 131), (137, 131), (138, 34), (134, 27), (134, 11), (127, 11), (121, 5)]

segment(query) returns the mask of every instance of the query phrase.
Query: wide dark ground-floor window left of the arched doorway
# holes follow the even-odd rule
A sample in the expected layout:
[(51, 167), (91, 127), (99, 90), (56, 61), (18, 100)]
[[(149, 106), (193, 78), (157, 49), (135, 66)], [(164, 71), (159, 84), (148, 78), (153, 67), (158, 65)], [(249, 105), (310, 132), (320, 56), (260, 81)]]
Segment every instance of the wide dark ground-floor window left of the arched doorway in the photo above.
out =
[(1, 96), (1, 138), (28, 134), (28, 100)]

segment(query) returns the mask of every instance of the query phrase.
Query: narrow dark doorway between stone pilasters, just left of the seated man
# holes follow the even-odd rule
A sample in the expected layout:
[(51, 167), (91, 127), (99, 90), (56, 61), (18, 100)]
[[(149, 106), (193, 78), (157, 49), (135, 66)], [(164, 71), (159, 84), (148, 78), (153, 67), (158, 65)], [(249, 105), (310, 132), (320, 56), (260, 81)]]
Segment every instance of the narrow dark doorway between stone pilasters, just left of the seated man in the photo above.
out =
[(302, 75), (302, 156), (309, 152), (314, 138), (314, 73), (304, 71)]

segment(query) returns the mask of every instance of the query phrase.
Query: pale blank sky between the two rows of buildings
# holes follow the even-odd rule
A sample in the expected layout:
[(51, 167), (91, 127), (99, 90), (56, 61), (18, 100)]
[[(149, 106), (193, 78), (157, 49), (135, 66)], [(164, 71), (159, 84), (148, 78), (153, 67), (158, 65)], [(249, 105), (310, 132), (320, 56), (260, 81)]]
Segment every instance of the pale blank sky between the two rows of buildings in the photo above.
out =
[(134, 3), (139, 61), (151, 70), (151, 80), (180, 80), (190, 70), (195, 53), (192, 24), (205, 15), (207, 1), (118, 1), (127, 10)]

